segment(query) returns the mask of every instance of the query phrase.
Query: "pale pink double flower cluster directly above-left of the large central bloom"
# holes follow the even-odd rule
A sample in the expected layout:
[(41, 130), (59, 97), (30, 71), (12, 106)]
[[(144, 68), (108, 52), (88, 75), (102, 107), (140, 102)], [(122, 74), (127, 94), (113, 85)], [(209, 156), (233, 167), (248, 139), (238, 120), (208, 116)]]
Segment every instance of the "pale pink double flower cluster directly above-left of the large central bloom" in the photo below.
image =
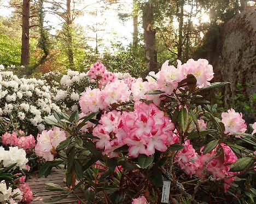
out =
[(123, 80), (108, 83), (104, 89), (86, 88), (79, 100), (83, 113), (107, 109), (111, 104), (130, 100), (131, 91)]

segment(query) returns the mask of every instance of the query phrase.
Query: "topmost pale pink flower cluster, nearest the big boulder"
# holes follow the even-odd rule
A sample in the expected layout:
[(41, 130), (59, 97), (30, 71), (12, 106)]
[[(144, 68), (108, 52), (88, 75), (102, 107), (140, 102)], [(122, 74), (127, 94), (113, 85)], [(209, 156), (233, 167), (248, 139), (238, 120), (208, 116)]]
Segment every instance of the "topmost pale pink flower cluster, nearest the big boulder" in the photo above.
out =
[(213, 68), (211, 64), (208, 64), (206, 59), (189, 59), (187, 63), (181, 65), (181, 61), (178, 60), (178, 68), (182, 70), (184, 76), (193, 74), (196, 77), (196, 85), (204, 87), (210, 85), (213, 78)]

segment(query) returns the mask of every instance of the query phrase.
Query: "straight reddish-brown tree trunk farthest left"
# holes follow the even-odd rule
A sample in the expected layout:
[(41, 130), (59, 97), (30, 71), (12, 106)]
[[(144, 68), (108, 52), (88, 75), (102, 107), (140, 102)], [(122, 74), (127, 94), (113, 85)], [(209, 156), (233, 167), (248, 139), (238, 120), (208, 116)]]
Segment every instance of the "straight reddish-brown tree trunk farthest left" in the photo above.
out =
[(21, 65), (30, 64), (30, 0), (22, 3)]

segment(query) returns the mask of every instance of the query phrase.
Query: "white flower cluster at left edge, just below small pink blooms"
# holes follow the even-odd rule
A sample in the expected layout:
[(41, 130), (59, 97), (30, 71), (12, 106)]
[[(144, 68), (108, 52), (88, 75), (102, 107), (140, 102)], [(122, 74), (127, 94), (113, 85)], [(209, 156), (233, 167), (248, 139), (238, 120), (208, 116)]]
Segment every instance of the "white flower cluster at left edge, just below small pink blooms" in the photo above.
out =
[(9, 151), (4, 150), (3, 147), (0, 147), (0, 158), (3, 160), (4, 167), (8, 167), (17, 163), (13, 169), (19, 167), (20, 169), (25, 169), (28, 159), (26, 158), (26, 152), (22, 148), (18, 147), (9, 147)]

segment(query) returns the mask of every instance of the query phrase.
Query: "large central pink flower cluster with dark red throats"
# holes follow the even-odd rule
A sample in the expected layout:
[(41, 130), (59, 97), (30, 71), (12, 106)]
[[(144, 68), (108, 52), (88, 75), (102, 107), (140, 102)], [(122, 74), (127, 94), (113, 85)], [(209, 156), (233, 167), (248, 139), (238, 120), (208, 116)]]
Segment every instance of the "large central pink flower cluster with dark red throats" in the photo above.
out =
[(117, 157), (114, 150), (123, 145), (129, 146), (131, 157), (138, 157), (152, 155), (155, 149), (165, 152), (174, 143), (173, 123), (154, 104), (137, 102), (133, 112), (104, 113), (100, 123), (93, 130), (96, 147), (110, 157)]

